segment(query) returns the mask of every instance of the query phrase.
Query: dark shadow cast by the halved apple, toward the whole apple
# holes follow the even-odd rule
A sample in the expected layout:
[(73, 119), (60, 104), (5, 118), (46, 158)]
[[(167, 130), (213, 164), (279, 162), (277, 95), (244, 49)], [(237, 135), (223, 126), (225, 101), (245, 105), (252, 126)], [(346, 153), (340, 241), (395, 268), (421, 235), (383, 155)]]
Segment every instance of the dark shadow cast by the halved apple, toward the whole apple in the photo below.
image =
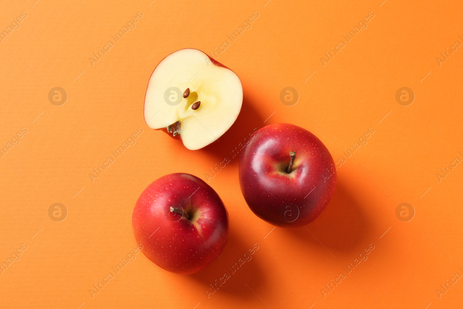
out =
[[(250, 99), (249, 95), (244, 94), (241, 111), (230, 129), (219, 137), (218, 140), (198, 151), (215, 157), (218, 162), (222, 162), (225, 157), (228, 157), (232, 161), (230, 164), (238, 164), (238, 160), (233, 160), (233, 158), (239, 158), (241, 154), (240, 143), (242, 143), (241, 147), (243, 147), (254, 129), (260, 129), (263, 123), (263, 118), (254, 106), (252, 106), (251, 101), (253, 100)], [(247, 139), (245, 140), (245, 138)], [(235, 163), (234, 161), (237, 162)]]

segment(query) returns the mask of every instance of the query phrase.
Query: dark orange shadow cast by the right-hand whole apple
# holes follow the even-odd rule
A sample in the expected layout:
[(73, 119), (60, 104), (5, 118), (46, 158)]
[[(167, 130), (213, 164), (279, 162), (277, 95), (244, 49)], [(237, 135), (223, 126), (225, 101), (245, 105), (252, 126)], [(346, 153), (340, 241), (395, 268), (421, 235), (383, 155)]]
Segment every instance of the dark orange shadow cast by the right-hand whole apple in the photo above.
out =
[(325, 250), (325, 246), (335, 257), (352, 257), (368, 247), (367, 241), (371, 239), (372, 225), (363, 207), (338, 178), (331, 201), (317, 219), (305, 227), (283, 230), (311, 250)]

